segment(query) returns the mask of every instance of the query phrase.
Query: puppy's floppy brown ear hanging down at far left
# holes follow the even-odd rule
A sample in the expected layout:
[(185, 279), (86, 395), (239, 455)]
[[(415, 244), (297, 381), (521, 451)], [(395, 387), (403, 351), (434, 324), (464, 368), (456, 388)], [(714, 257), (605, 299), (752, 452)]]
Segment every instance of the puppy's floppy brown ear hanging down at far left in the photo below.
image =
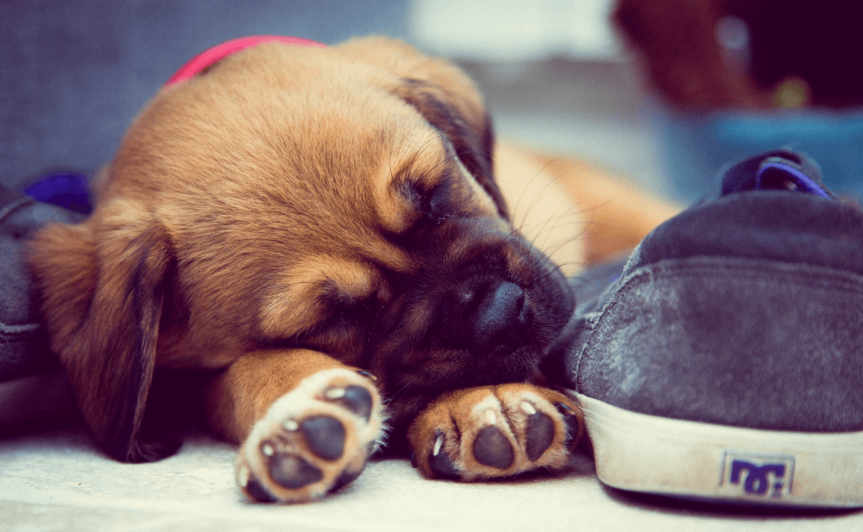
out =
[(147, 462), (178, 447), (141, 440), (173, 254), (161, 226), (132, 227), (48, 225), (29, 262), (52, 349), (98, 444), (114, 459)]

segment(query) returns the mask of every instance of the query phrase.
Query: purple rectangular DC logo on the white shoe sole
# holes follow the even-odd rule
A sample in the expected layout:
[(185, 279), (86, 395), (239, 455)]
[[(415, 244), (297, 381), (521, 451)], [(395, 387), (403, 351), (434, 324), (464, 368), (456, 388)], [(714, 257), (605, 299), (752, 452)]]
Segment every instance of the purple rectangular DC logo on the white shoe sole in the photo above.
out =
[(721, 492), (773, 499), (791, 495), (793, 456), (728, 451), (722, 461)]

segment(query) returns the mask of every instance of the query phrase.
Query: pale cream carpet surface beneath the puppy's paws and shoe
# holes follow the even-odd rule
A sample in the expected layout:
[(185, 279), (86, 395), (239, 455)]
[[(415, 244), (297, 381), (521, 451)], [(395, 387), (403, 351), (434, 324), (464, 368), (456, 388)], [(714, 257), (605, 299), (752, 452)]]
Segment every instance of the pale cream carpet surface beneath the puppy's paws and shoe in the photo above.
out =
[(861, 530), (861, 512), (712, 507), (602, 487), (584, 459), (560, 477), (462, 484), (381, 460), (314, 504), (249, 504), (235, 447), (205, 435), (154, 464), (119, 464), (82, 428), (0, 440), (0, 530)]

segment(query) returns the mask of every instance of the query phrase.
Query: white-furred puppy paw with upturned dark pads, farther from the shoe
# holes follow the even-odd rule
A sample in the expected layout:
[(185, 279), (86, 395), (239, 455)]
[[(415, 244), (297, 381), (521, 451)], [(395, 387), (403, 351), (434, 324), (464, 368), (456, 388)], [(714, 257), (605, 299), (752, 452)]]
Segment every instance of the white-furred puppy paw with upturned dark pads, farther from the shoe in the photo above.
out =
[(362, 373), (318, 371), (273, 403), (237, 455), (246, 495), (306, 502), (360, 475), (383, 427), (381, 396)]

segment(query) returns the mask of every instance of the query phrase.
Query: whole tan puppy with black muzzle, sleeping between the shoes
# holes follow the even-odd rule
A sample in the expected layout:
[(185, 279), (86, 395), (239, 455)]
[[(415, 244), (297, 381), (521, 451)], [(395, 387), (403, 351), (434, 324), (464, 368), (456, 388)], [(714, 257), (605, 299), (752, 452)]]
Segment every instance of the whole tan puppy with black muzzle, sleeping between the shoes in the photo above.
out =
[(463, 73), (381, 38), (265, 43), (163, 88), (91, 217), (32, 245), (52, 347), (104, 452), (173, 453), (142, 426), (154, 371), (203, 369), (207, 420), (241, 444), (255, 500), (349, 483), (385, 424), (429, 478), (563, 468), (581, 415), (530, 381), (574, 301), (520, 229), (571, 205), (502, 151), (515, 199), (545, 217), (513, 225), (493, 143)]

